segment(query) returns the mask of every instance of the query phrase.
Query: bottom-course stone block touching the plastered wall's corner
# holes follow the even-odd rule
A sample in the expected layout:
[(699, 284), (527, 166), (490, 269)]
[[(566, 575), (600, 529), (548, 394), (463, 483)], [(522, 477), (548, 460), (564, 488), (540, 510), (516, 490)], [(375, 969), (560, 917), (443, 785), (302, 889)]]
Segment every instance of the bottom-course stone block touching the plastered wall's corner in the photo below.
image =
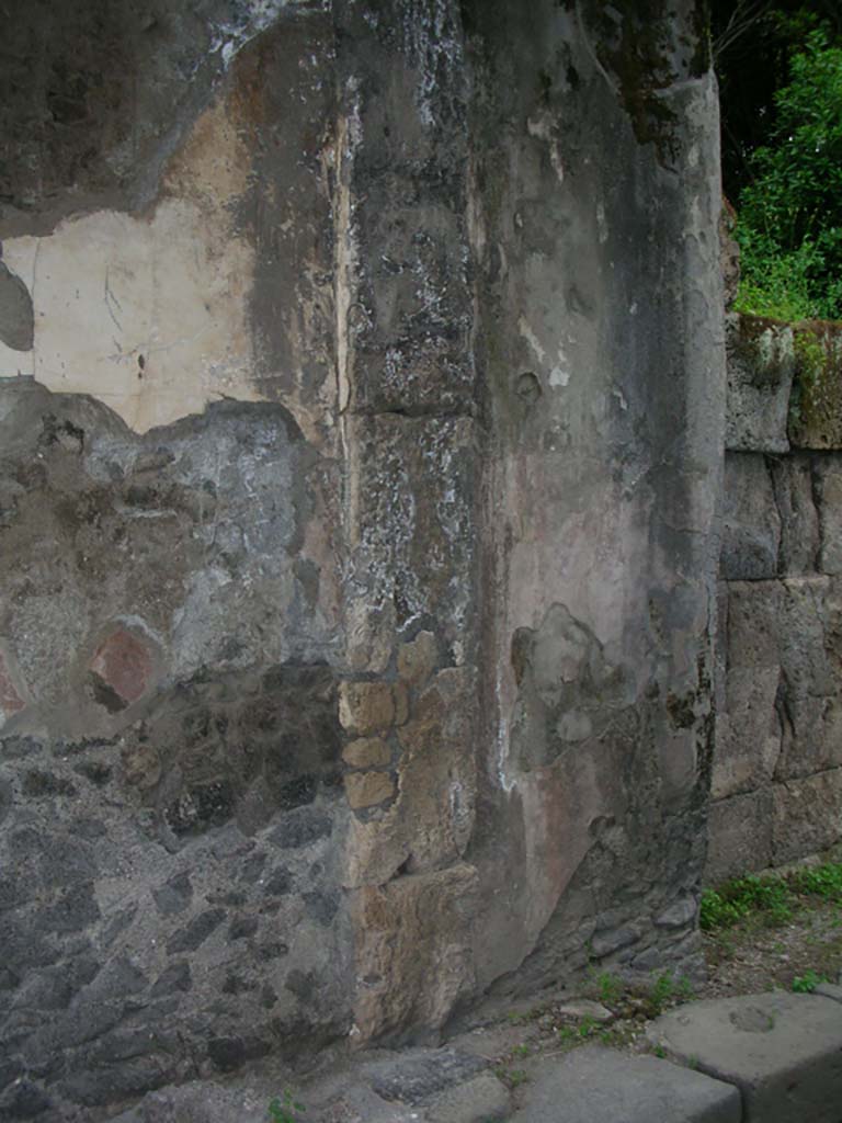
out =
[(705, 882), (765, 869), (772, 855), (772, 793), (766, 787), (711, 804)]

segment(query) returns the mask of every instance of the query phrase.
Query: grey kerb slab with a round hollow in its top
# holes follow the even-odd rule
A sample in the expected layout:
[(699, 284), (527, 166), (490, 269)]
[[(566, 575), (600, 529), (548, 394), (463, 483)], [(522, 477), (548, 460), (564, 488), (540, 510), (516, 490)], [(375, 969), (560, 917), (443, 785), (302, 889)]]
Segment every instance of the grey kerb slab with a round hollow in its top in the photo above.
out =
[(842, 1120), (842, 1011), (831, 998), (781, 992), (688, 1003), (648, 1033), (739, 1087), (744, 1123)]

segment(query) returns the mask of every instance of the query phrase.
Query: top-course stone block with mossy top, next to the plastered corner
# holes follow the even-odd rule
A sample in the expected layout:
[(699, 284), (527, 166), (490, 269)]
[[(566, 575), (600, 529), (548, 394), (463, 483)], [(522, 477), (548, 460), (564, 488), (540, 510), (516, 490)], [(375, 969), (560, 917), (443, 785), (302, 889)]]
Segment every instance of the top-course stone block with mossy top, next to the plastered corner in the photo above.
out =
[(789, 394), (795, 374), (793, 329), (775, 320), (726, 317), (725, 447), (786, 453)]

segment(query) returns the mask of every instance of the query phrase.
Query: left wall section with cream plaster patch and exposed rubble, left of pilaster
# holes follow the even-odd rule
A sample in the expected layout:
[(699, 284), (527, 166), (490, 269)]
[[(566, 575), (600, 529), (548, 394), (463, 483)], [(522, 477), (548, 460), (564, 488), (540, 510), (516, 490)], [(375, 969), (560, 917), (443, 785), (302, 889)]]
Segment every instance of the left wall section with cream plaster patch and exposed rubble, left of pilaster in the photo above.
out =
[(86, 1119), (353, 1024), (335, 36), (16, 8), (0, 1116)]

